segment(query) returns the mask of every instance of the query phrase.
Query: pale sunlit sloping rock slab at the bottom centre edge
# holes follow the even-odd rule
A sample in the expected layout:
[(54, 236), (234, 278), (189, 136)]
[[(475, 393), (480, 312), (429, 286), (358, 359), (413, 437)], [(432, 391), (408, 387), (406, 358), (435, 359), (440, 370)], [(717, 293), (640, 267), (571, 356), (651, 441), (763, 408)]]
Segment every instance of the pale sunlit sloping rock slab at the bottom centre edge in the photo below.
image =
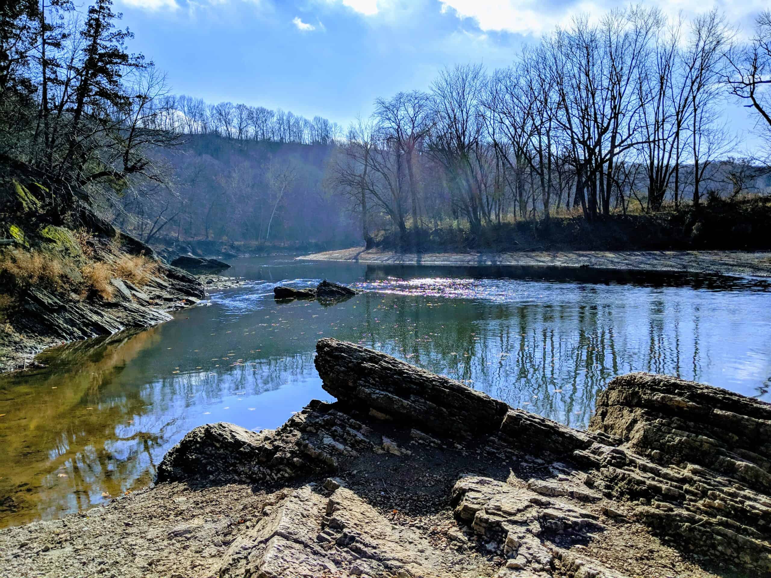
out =
[(221, 578), (478, 576), (460, 553), (444, 555), (410, 526), (396, 526), (351, 490), (302, 486), (228, 549)]

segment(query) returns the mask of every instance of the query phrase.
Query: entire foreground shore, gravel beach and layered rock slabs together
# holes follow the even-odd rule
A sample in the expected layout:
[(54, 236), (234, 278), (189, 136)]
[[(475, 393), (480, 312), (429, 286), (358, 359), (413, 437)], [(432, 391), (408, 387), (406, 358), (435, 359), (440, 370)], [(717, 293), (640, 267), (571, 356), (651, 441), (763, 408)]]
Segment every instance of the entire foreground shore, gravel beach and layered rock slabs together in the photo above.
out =
[(195, 428), (157, 485), (0, 531), (0, 576), (497, 578), (771, 573), (771, 405), (636, 373), (588, 431), (359, 345), (332, 404)]

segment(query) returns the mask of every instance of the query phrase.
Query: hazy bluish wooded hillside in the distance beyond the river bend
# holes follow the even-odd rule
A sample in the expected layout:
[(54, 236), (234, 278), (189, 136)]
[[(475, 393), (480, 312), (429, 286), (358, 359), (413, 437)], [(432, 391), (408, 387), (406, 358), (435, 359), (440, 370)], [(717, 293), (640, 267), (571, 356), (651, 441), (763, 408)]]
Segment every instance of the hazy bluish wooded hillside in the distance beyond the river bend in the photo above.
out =
[(349, 247), (359, 242), (359, 227), (324, 183), (334, 148), (185, 135), (159, 158), (173, 175), (170, 186), (124, 197), (114, 219), (147, 243)]

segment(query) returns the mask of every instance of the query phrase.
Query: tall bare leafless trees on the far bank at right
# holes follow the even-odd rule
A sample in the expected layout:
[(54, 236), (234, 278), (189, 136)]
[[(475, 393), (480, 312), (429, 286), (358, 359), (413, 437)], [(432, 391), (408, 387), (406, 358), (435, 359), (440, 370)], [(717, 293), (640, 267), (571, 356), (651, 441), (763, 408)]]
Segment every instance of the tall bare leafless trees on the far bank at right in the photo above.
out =
[(474, 232), (562, 208), (597, 220), (633, 200), (699, 207), (716, 173), (737, 194), (768, 164), (761, 151), (720, 161), (740, 141), (728, 106), (748, 106), (771, 143), (769, 83), (771, 12), (746, 40), (716, 10), (688, 22), (641, 6), (581, 16), (507, 68), (457, 65), (427, 92), (377, 99), (328, 183), (357, 207), (362, 237), (385, 214), (402, 243), (408, 223), (463, 220)]

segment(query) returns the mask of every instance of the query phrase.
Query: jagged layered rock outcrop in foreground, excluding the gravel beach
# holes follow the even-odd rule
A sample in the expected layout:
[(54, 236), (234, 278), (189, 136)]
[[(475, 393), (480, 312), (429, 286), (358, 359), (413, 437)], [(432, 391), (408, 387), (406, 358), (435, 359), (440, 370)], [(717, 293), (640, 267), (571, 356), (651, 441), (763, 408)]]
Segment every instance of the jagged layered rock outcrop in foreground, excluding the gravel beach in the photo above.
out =
[[(500, 578), (664, 575), (654, 569), (666, 556), (771, 573), (771, 407), (763, 402), (632, 374), (611, 381), (580, 432), (356, 344), (327, 338), (317, 351), (338, 402), (313, 402), (275, 432), (197, 428), (163, 459), (159, 481), (264, 485), (335, 472), (350, 479), (364, 468), (381, 478), (381, 497), (362, 499), (372, 496), (366, 482), (362, 494), (339, 480), (288, 492), (229, 549), (222, 576), (463, 576), (457, 569), (473, 552), (493, 556), (485, 575)], [(497, 456), (503, 470), (467, 459), (474, 449)], [(396, 460), (388, 472), (379, 471), (384, 455)], [(399, 495), (388, 488), (391, 472), (432, 460), (453, 480), (445, 499), (466, 532), (444, 536), (460, 558), (434, 558), (426, 533), (399, 533), (373, 509)], [(635, 549), (647, 552), (635, 558), (643, 562), (629, 560)]]

